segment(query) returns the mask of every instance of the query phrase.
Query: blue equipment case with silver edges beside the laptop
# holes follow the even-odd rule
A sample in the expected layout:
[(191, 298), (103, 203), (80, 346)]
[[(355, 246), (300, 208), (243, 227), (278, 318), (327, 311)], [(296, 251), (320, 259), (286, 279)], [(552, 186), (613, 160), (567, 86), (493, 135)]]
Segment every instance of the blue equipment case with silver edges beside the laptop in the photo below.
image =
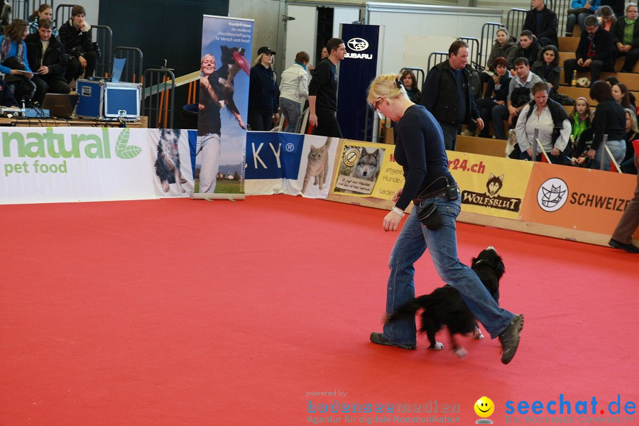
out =
[(110, 119), (119, 116), (126, 120), (140, 119), (141, 84), (77, 80), (80, 95), (75, 114), (85, 119)]

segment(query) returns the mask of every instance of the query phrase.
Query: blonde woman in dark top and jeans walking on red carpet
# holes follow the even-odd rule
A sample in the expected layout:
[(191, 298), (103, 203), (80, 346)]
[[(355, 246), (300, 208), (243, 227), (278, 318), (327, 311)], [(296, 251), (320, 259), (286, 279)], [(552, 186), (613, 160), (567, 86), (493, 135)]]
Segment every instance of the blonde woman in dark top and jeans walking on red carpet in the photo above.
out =
[[(396, 231), (404, 209), (415, 202), (391, 251), (386, 313), (415, 297), (414, 264), (428, 248), (442, 280), (459, 290), (491, 337), (499, 337), (501, 362), (508, 364), (519, 344), (523, 315), (499, 307), (474, 271), (459, 261), (455, 221), (461, 200), (448, 170), (444, 135), (432, 114), (408, 99), (400, 78), (394, 74), (377, 77), (368, 88), (367, 99), (375, 111), (395, 121), (395, 160), (404, 168), (404, 187), (393, 197), (395, 206), (384, 217), (383, 228)], [(418, 216), (425, 212), (432, 214), (422, 224)], [(415, 318), (397, 320), (384, 325), (383, 333), (372, 333), (371, 342), (415, 349), (416, 333)]]

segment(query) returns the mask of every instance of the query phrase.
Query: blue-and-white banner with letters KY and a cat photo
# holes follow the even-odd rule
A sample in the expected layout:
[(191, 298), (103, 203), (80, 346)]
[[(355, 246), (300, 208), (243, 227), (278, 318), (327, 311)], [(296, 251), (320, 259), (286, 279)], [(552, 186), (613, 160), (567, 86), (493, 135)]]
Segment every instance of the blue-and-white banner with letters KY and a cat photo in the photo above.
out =
[(296, 133), (247, 133), (245, 193), (327, 198), (338, 142)]

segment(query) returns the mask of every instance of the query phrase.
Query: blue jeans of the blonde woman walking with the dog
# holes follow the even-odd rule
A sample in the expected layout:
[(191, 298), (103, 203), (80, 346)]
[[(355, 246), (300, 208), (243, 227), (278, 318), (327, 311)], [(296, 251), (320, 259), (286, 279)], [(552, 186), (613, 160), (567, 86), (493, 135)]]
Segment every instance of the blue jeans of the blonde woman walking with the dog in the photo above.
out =
[[(420, 206), (429, 202), (437, 203), (437, 210), (442, 216), (442, 226), (435, 231), (423, 226), (417, 219)], [(476, 273), (457, 258), (455, 222), (461, 210), (461, 200), (449, 201), (440, 196), (425, 200), (420, 206), (415, 206), (408, 215), (391, 251), (386, 313), (395, 312), (415, 297), (415, 262), (428, 248), (439, 277), (444, 283), (457, 288), (466, 305), (494, 339), (508, 327), (515, 315), (499, 307)], [(437, 282), (436, 286), (439, 287), (439, 284)], [(415, 344), (416, 332), (414, 318), (384, 325), (384, 337), (399, 344)]]

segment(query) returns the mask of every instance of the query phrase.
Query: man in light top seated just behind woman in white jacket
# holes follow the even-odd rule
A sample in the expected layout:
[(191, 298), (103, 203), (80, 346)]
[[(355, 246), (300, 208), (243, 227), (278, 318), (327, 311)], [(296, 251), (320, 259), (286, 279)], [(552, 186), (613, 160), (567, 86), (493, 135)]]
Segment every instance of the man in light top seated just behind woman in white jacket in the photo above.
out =
[(515, 126), (520, 111), (532, 99), (530, 89), (539, 82), (543, 81), (530, 71), (526, 58), (515, 59), (515, 78), (510, 79), (508, 84), (506, 105), (496, 105), (491, 111), (495, 138), (506, 139), (506, 132), (503, 130), (504, 121), (508, 120), (510, 126)]

